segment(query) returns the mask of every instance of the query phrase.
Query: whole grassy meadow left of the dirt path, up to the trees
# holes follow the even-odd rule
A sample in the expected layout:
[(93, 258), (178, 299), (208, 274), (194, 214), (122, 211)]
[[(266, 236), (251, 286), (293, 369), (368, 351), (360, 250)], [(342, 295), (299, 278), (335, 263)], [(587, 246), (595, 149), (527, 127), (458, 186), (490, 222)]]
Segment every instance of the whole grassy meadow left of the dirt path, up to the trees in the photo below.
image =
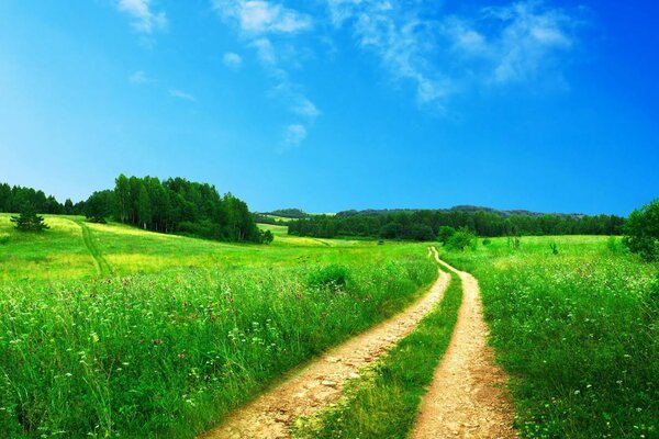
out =
[(34, 235), (1, 218), (8, 438), (194, 437), (437, 273), (425, 245), (283, 227), (271, 246), (230, 245), (63, 216)]

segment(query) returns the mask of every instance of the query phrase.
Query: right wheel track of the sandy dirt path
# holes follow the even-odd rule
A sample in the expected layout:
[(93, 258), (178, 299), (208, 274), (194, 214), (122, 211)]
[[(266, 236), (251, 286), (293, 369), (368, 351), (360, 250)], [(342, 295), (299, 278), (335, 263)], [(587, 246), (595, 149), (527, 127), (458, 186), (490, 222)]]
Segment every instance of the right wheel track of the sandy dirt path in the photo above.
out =
[(506, 376), (487, 346), (477, 280), (440, 261), (462, 280), (462, 305), (448, 350), (424, 396), (414, 439), (516, 438)]

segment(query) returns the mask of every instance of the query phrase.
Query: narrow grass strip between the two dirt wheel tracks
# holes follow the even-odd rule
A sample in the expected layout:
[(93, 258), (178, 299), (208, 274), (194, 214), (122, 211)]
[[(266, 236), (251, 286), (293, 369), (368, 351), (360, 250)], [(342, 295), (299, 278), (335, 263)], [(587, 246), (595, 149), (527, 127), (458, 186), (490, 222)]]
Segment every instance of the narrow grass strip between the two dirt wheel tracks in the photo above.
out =
[(362, 378), (348, 383), (335, 407), (293, 428), (299, 438), (394, 439), (410, 435), (421, 398), (444, 356), (457, 320), (462, 286), (451, 273), (444, 299)]

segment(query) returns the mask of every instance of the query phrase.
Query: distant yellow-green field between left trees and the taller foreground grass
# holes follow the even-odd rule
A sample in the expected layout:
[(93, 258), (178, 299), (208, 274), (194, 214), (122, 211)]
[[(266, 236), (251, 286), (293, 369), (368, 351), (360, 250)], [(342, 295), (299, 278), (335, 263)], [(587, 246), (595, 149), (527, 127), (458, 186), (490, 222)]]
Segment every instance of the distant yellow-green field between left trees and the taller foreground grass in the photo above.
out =
[[(175, 268), (284, 267), (291, 263), (372, 261), (376, 243), (289, 236), (284, 226), (259, 225), (276, 238), (270, 246), (227, 244), (144, 232), (122, 224), (86, 223), (81, 216), (46, 215), (49, 230), (21, 234), (0, 214), (0, 280), (77, 279), (98, 274), (86, 246), (82, 225), (115, 274), (159, 272)], [(324, 251), (333, 247), (336, 251)], [(423, 246), (416, 246), (424, 248)], [(407, 247), (409, 248), (409, 247)], [(393, 257), (404, 246), (382, 246)], [(358, 257), (357, 257), (358, 256)]]

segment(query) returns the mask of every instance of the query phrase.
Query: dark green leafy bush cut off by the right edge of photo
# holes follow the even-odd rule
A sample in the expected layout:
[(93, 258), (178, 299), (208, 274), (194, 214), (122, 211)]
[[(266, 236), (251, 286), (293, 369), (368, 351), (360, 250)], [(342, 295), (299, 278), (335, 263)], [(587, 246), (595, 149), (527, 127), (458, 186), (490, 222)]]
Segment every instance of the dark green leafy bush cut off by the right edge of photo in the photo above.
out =
[(632, 212), (623, 243), (647, 261), (659, 258), (659, 200)]

